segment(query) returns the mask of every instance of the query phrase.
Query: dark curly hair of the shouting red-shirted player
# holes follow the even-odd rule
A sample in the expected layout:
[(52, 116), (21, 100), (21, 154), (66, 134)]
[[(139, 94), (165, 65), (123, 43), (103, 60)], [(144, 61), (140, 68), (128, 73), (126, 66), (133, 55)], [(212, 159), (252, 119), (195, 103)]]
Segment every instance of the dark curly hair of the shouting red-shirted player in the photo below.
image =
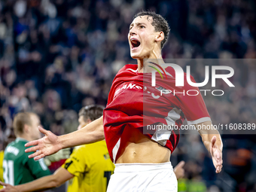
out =
[(163, 41), (161, 41), (161, 48), (163, 48), (164, 44), (166, 44), (166, 41), (169, 37), (169, 24), (160, 14), (156, 14), (154, 11), (140, 11), (138, 14), (133, 16), (133, 20), (136, 17), (141, 17), (145, 15), (152, 17), (153, 21), (151, 24), (152, 26), (154, 26), (156, 32), (163, 32), (164, 38)]

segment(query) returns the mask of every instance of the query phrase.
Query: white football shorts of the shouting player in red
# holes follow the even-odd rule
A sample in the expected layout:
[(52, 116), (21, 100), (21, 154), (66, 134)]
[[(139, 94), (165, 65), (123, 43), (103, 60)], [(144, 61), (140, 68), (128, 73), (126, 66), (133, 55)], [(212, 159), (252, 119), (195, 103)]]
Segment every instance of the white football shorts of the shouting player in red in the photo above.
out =
[(118, 163), (107, 192), (177, 192), (172, 163)]

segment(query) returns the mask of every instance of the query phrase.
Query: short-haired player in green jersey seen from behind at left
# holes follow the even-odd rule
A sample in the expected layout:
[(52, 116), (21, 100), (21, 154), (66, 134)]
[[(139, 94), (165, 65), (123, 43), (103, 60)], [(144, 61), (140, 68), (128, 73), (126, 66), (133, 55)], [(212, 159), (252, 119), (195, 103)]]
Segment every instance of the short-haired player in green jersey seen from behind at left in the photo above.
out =
[(17, 139), (5, 148), (3, 160), (5, 183), (17, 185), (50, 175), (44, 160), (29, 159), (25, 144), (41, 138), (38, 131), (39, 117), (33, 113), (19, 113), (14, 117), (14, 133)]

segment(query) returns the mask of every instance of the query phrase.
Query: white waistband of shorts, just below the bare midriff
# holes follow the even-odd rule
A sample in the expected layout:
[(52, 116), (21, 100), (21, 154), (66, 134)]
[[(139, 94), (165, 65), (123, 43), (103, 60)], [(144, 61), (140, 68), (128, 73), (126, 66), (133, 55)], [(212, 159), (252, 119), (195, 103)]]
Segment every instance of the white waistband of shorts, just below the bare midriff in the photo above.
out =
[(157, 169), (172, 169), (172, 163), (117, 163), (114, 172), (145, 172)]

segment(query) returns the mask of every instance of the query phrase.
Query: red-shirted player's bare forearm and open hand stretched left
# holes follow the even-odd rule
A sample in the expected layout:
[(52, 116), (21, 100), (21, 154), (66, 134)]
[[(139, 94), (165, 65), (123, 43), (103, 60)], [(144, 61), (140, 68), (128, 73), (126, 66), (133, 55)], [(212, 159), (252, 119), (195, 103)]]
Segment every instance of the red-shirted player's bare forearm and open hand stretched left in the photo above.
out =
[(77, 145), (84, 145), (88, 143), (98, 142), (105, 139), (103, 130), (103, 117), (93, 120), (83, 129), (69, 133), (63, 136), (56, 136), (50, 131), (44, 130), (39, 127), (41, 133), (44, 133), (44, 137), (32, 142), (26, 143), (26, 152), (36, 151), (34, 154), (29, 155), (29, 158), (34, 160), (40, 160), (50, 154), (54, 154), (62, 148), (71, 148)]

